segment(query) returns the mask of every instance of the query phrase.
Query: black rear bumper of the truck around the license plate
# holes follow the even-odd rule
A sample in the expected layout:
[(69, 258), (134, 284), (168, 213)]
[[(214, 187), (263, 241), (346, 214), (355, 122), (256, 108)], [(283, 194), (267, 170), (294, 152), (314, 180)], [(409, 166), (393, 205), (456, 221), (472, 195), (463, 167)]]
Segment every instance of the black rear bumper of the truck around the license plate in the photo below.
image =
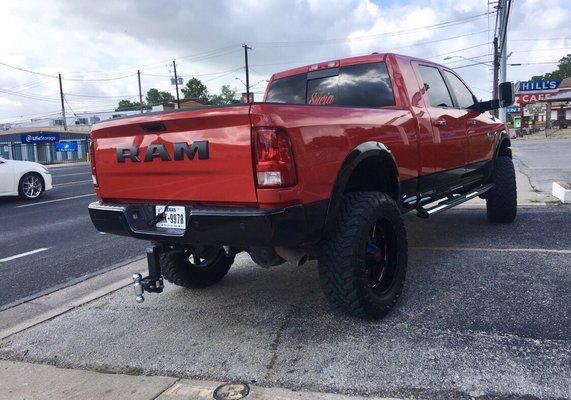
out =
[[(179, 204), (172, 204), (179, 205)], [(299, 246), (319, 241), (328, 201), (275, 209), (187, 206), (186, 229), (149, 227), (155, 204), (89, 205), (100, 232), (169, 244)]]

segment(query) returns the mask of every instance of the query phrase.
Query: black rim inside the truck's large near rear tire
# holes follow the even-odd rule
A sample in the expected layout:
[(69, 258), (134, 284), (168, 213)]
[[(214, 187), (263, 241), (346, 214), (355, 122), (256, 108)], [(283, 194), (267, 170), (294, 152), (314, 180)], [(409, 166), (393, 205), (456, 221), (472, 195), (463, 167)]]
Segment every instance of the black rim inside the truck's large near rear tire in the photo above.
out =
[(368, 287), (377, 295), (389, 292), (396, 281), (397, 241), (394, 228), (388, 220), (377, 220), (365, 247), (363, 275)]

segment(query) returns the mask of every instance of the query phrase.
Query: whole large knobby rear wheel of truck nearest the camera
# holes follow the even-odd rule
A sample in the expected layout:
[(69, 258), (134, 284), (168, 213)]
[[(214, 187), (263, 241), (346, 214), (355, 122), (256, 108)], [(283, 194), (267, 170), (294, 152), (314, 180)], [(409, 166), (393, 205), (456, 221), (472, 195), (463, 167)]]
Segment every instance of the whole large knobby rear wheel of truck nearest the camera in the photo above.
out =
[(406, 230), (386, 194), (345, 195), (319, 257), (322, 289), (333, 308), (381, 318), (401, 295), (407, 268)]

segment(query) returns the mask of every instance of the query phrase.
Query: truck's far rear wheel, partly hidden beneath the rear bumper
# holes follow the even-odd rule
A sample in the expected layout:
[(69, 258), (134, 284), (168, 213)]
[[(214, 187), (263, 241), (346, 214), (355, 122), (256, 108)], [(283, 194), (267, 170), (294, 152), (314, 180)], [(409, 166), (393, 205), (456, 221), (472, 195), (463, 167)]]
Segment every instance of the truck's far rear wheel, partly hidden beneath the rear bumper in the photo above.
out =
[(222, 247), (201, 246), (163, 253), (161, 272), (177, 286), (200, 289), (220, 282), (233, 263), (234, 256), (228, 256)]

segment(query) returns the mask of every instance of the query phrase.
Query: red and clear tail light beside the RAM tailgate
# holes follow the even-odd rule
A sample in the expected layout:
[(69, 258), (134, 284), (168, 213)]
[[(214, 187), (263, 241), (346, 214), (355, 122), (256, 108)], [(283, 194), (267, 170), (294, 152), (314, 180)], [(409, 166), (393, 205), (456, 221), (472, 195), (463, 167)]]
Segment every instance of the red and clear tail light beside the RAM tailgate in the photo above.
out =
[(291, 142), (283, 129), (254, 128), (254, 156), (257, 187), (288, 187), (297, 183)]

